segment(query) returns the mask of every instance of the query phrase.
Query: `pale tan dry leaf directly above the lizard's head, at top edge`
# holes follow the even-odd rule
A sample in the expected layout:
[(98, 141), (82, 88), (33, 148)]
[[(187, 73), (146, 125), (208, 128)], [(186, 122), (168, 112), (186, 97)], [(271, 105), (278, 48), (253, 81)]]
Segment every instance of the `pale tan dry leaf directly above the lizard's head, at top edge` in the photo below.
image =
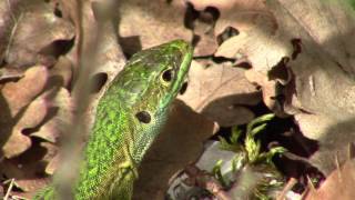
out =
[[(183, 1), (123, 1), (120, 6), (119, 34), (123, 39), (121, 42), (130, 42), (126, 46), (123, 43), (125, 51), (133, 53), (173, 39), (190, 41), (192, 32), (184, 27), (185, 9)], [(132, 41), (134, 37), (138, 43)]]

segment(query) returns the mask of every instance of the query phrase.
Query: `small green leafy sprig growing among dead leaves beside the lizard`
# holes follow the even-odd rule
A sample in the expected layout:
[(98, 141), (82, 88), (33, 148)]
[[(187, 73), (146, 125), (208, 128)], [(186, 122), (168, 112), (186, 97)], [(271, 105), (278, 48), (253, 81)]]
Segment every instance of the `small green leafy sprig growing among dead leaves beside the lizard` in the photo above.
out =
[[(256, 187), (252, 190), (252, 197), (256, 199), (270, 199), (268, 193), (271, 190), (280, 189), (285, 179), (275, 168), (272, 158), (277, 153), (286, 151), (283, 147), (271, 148), (266, 152), (261, 151), (261, 141), (255, 139), (255, 136), (262, 133), (270, 120), (274, 118), (273, 113), (261, 116), (252, 120), (246, 126), (245, 139), (241, 141), (243, 131), (239, 127), (232, 128), (232, 134), (229, 141), (220, 137), (220, 148), (227, 151), (235, 152), (232, 160), (232, 173), (239, 173), (243, 168), (247, 167), (257, 173)], [(233, 181), (229, 180), (221, 172), (223, 161), (220, 160), (213, 168), (213, 174), (224, 187), (230, 187)]]

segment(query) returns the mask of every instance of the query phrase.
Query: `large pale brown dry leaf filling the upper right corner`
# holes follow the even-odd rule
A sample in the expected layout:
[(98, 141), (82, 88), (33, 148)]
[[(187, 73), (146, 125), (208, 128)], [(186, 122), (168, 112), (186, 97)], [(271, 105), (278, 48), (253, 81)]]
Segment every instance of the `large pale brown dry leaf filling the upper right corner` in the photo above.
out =
[[(251, 19), (247, 20), (244, 16), (241, 26), (235, 20), (233, 27), (240, 34), (224, 41), (215, 54), (243, 58), (264, 77), (288, 58), (285, 66), (291, 69), (293, 80), (286, 82), (282, 91), (285, 100), (277, 103), (282, 103), (288, 113), (296, 113), (296, 120), (306, 137), (320, 141), (320, 151), (311, 161), (328, 173), (334, 169), (331, 162), (335, 152), (339, 152), (339, 160), (343, 161), (346, 143), (355, 140), (352, 132), (355, 124), (355, 81), (352, 78), (355, 71), (355, 42), (352, 42), (355, 40), (354, 11), (344, 1), (264, 2), (268, 11), (260, 7), (263, 11), (258, 14), (264, 17), (253, 18), (250, 14)], [(250, 7), (245, 6), (241, 16), (254, 12), (246, 8)], [(257, 12), (261, 11), (254, 14)], [(241, 18), (236, 16), (234, 19)], [(257, 20), (252, 23), (254, 19)], [(274, 81), (272, 86), (268, 81), (260, 82), (264, 89), (277, 88), (277, 82), (284, 83)], [(264, 92), (264, 99), (274, 96), (273, 91)], [(320, 122), (324, 122), (322, 129)], [(339, 129), (342, 131), (337, 131)]]

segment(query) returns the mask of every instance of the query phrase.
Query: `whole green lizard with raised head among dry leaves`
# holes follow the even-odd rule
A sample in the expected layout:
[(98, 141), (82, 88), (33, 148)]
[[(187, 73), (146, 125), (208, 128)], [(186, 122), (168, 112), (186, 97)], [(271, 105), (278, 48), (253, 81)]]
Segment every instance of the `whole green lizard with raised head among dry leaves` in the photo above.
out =
[[(75, 200), (129, 200), (138, 166), (164, 124), (192, 60), (192, 47), (174, 40), (134, 54), (100, 99)], [(52, 200), (53, 188), (34, 199)]]

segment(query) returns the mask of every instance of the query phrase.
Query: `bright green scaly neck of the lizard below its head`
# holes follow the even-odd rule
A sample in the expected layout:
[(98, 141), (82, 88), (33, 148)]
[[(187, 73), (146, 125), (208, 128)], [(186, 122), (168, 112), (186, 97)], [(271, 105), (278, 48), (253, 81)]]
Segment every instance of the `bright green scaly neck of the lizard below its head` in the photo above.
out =
[(100, 101), (74, 189), (75, 198), (95, 199), (108, 193), (109, 188), (133, 186), (138, 167), (168, 116), (166, 111), (160, 112), (150, 123), (141, 123), (134, 113), (111, 94)]

